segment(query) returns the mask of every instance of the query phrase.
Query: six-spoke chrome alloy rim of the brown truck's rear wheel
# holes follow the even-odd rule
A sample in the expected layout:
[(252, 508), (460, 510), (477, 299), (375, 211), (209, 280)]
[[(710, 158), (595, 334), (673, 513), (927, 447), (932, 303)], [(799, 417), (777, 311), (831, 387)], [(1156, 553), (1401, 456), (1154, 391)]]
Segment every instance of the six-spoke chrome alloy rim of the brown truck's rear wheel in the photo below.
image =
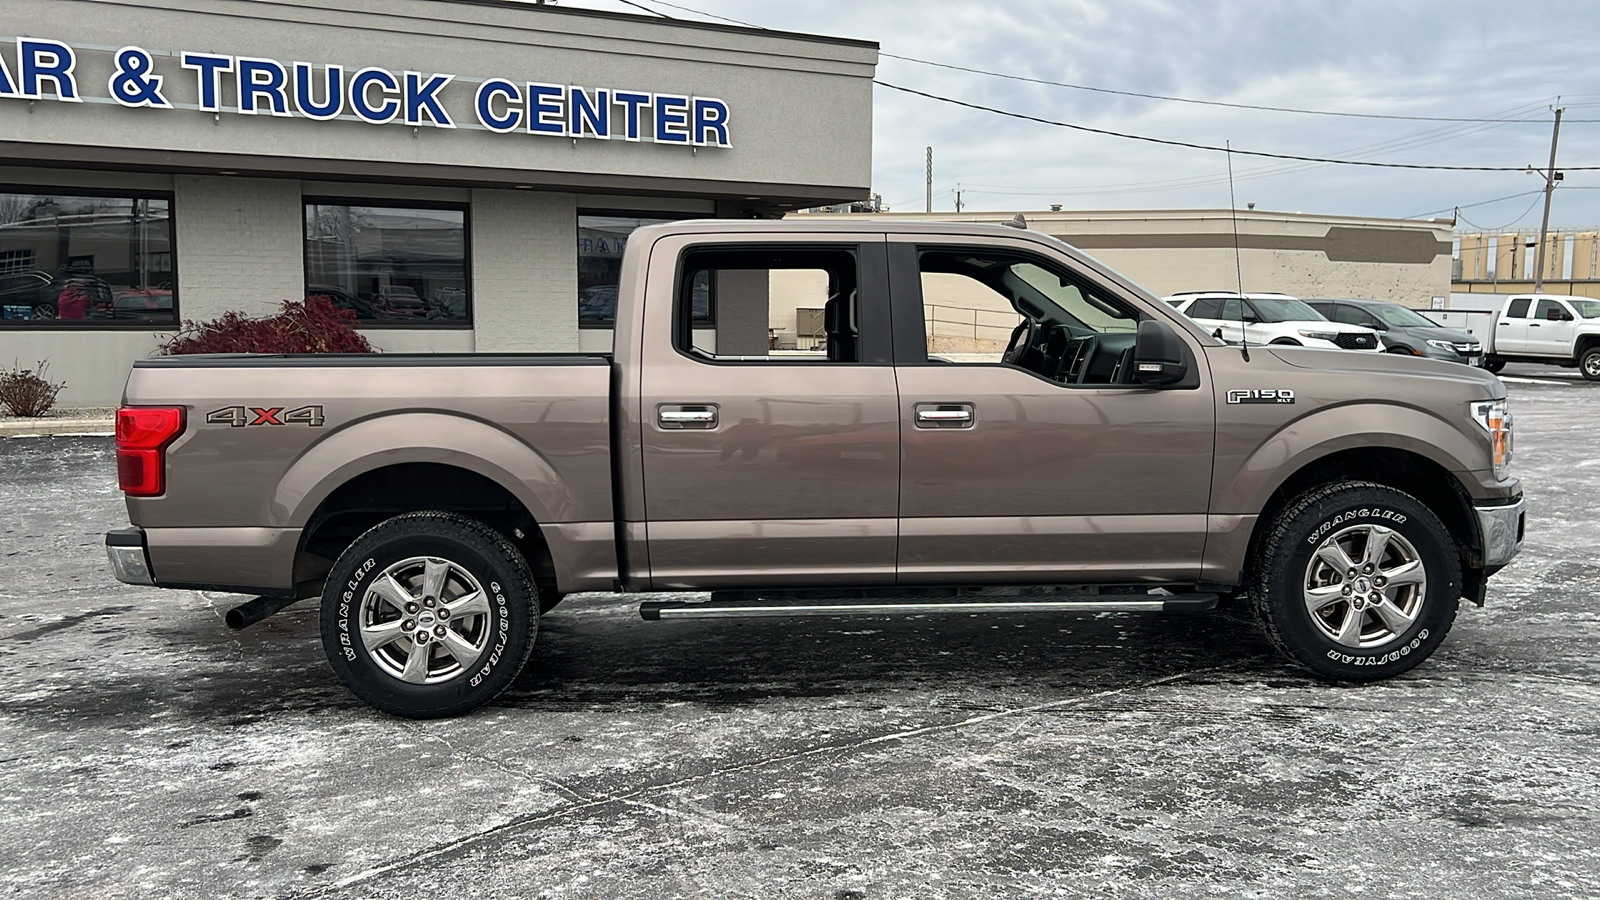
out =
[(362, 644), (410, 684), (461, 677), (490, 642), (490, 601), (470, 572), (434, 556), (384, 569), (360, 607)]

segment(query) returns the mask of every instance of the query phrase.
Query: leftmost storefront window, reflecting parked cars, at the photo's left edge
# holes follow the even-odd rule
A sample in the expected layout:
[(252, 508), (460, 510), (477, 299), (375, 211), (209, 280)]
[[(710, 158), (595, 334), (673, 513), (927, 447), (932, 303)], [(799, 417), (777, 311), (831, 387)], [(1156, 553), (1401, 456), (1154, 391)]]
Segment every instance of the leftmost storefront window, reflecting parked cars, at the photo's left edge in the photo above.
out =
[(0, 325), (176, 325), (171, 200), (0, 191)]

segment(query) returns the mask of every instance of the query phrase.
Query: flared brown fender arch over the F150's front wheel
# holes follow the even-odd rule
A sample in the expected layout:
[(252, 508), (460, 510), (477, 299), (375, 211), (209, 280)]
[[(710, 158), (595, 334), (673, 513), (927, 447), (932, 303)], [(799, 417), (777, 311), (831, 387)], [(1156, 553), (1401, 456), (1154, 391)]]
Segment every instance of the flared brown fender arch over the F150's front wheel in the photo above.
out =
[[(1472, 424), (1466, 410), (1462, 423)], [(1323, 407), (1272, 432), (1237, 469), (1227, 471), (1229, 461), (1219, 455), (1211, 512), (1259, 512), (1272, 493), (1307, 464), (1341, 450), (1371, 447), (1408, 450), (1432, 460), (1469, 490), (1477, 479), (1461, 474), (1490, 468), (1486, 442), (1472, 440), (1454, 423), (1427, 410), (1382, 402)]]

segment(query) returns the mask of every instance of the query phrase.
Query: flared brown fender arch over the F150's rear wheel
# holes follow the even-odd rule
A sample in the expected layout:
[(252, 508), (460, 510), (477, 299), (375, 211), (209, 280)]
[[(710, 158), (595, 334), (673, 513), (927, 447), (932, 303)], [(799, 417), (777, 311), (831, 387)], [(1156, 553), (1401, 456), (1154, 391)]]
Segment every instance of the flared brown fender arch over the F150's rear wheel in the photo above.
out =
[(339, 485), (398, 463), (477, 472), (510, 492), (541, 525), (565, 522), (578, 509), (555, 468), (528, 444), (482, 420), (413, 412), (355, 421), (323, 436), (278, 480), (267, 514), (274, 525), (306, 527)]

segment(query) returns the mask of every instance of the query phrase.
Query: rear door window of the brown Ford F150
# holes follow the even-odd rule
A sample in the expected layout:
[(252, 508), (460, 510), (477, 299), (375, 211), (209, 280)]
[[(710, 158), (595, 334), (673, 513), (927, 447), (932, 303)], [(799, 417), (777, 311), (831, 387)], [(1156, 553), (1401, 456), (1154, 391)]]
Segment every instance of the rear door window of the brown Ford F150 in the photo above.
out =
[(859, 362), (859, 285), (846, 248), (690, 251), (678, 269), (674, 341), (707, 362)]

